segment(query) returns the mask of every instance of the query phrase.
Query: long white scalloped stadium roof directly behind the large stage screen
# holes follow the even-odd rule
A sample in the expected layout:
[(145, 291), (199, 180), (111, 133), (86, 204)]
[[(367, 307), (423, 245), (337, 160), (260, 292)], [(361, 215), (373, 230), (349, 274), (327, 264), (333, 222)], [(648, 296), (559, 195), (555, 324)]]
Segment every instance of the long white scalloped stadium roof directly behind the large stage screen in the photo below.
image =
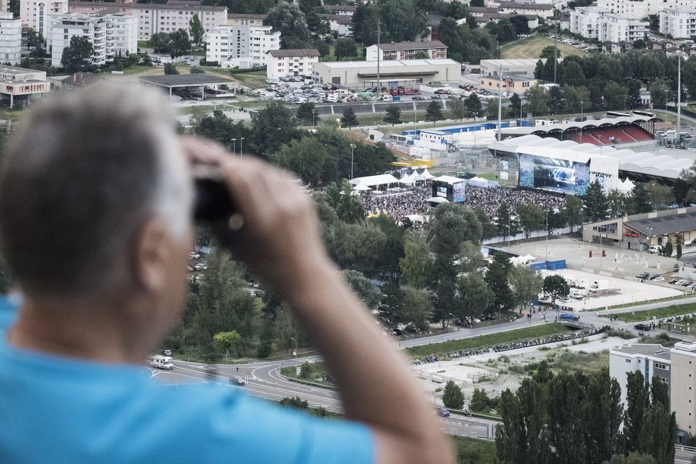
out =
[(583, 160), (596, 157), (611, 157), (619, 162), (619, 170), (626, 173), (663, 177), (666, 179), (679, 178), (681, 171), (690, 168), (694, 163), (692, 159), (675, 158), (659, 152), (634, 152), (626, 148), (617, 150), (614, 147), (592, 145), (592, 143), (580, 144), (574, 141), (560, 141), (557, 138), (542, 138), (532, 134), (494, 142), (488, 148), (491, 152), (532, 154), (549, 158), (569, 159), (577, 162), (587, 162)]

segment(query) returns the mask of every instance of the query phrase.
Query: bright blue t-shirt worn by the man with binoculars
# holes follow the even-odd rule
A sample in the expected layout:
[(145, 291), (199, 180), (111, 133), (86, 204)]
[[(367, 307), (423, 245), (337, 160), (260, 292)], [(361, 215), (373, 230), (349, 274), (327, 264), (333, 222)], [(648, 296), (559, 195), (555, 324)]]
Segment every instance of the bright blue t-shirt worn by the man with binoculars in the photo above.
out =
[(366, 463), (370, 429), (221, 385), (165, 387), (147, 369), (17, 349), (0, 301), (0, 463)]

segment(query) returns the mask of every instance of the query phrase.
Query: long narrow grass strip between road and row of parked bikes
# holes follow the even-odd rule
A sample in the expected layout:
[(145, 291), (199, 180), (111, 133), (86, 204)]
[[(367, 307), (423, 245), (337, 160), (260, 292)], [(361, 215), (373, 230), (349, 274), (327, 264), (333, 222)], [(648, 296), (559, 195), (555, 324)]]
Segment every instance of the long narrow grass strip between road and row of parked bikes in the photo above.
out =
[(448, 342), (433, 343), (422, 346), (412, 346), (411, 348), (407, 348), (406, 352), (415, 357), (427, 356), (432, 353), (442, 354), (449, 353), (450, 351), (482, 348), (484, 346), (514, 342), (516, 340), (524, 340), (528, 338), (545, 337), (546, 335), (553, 335), (555, 333), (564, 333), (568, 330), (569, 329), (562, 323), (549, 323), (544, 324), (543, 326), (507, 330), (505, 332), (479, 335), (478, 337), (449, 340)]

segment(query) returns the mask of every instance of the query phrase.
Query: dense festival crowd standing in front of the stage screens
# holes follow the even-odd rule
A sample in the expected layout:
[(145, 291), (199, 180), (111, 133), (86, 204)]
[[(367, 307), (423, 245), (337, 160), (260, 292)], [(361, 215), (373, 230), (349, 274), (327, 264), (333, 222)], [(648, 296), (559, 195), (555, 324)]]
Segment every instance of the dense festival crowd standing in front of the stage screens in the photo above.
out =
[[(367, 214), (386, 214), (396, 221), (402, 221), (405, 216), (425, 214), (430, 205), (427, 200), (432, 198), (432, 184), (423, 182), (416, 186), (398, 191), (361, 192), (363, 205)], [(497, 216), (498, 207), (506, 202), (509, 209), (514, 211), (518, 205), (533, 204), (541, 209), (559, 208), (563, 203), (562, 195), (554, 195), (538, 190), (520, 190), (493, 187), (466, 187), (464, 205), (470, 208), (482, 208), (491, 218)]]

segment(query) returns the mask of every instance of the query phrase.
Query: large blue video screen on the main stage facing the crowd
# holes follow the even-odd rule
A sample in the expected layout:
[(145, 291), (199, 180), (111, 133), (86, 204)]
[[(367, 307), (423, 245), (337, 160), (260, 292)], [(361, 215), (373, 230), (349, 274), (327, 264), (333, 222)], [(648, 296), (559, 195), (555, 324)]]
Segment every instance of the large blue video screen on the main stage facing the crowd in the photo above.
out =
[(589, 163), (520, 154), (522, 187), (584, 195), (590, 184)]

